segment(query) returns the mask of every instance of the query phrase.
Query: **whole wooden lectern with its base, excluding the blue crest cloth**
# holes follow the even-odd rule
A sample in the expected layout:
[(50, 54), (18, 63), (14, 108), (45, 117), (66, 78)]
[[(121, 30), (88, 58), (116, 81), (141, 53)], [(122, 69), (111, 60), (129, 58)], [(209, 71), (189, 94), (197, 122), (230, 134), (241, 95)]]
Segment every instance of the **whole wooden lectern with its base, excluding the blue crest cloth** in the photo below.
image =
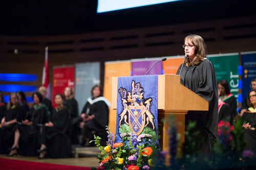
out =
[[(112, 109), (117, 108), (118, 78), (112, 78)], [(177, 122), (182, 125), (177, 126), (178, 133), (181, 134), (180, 141), (185, 140), (185, 114), (188, 110), (208, 110), (208, 102), (193, 91), (180, 84), (179, 75), (159, 75), (158, 76), (158, 124), (161, 139), (160, 146), (163, 151), (168, 151), (168, 125), (162, 123), (162, 118), (167, 118), (168, 114), (174, 114)]]

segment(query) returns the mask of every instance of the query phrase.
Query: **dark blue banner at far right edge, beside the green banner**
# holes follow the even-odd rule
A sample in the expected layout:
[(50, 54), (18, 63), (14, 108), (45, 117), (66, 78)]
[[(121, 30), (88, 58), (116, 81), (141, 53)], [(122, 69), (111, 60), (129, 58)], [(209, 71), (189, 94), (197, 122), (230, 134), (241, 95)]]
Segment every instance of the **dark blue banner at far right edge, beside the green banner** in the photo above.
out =
[(247, 98), (250, 91), (250, 83), (256, 78), (256, 52), (241, 53), (242, 61), (242, 101)]

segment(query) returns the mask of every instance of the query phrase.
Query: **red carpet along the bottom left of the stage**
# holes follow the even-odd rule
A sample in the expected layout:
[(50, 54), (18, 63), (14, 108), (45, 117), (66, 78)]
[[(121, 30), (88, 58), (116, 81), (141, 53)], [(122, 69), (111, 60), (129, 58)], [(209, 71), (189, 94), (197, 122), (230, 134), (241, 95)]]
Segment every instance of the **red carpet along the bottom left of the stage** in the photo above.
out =
[(23, 170), (23, 169), (83, 169), (90, 170), (91, 167), (82, 167), (82, 166), (69, 166), (69, 165), (58, 165), (52, 163), (40, 163), (40, 162), (30, 162), (30, 161), (20, 161), (13, 159), (3, 159), (0, 158), (0, 169), (1, 170)]

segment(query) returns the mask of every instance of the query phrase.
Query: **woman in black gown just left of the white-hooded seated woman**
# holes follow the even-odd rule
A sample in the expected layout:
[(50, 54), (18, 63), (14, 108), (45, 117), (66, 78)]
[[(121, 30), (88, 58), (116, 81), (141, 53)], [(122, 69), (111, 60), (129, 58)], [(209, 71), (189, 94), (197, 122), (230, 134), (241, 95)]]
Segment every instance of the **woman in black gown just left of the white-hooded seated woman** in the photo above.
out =
[(73, 97), (73, 91), (71, 87), (66, 87), (63, 91), (64, 102), (63, 106), (65, 106), (70, 114), (70, 122), (71, 122), (71, 143), (78, 144), (78, 134), (75, 128), (76, 119), (78, 117), (78, 104), (77, 101)]

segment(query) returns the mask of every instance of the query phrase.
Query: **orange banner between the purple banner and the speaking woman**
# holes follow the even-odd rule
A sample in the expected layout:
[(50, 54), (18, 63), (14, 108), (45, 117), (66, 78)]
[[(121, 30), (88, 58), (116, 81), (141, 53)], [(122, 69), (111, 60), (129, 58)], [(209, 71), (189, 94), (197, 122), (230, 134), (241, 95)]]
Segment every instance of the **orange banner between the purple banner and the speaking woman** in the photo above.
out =
[(184, 57), (166, 57), (167, 60), (163, 62), (164, 74), (176, 75), (180, 65), (183, 63)]

